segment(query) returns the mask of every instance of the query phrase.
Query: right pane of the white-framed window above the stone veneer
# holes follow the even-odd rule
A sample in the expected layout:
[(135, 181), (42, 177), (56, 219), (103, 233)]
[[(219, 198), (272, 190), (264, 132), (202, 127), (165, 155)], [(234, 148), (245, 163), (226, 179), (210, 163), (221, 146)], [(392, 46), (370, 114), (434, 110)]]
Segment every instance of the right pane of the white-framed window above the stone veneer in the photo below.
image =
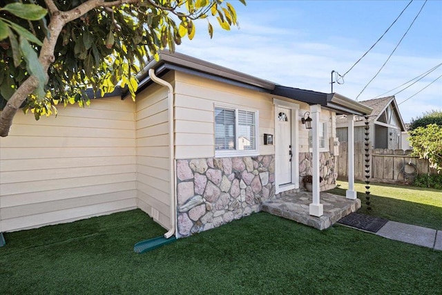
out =
[(256, 113), (238, 111), (238, 150), (256, 149)]

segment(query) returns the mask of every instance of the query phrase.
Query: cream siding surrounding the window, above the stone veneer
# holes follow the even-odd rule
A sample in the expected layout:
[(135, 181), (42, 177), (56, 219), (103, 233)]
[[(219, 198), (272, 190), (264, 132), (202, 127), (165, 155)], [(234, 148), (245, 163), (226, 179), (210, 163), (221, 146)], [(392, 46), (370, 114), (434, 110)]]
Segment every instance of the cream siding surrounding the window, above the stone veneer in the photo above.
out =
[(211, 79), (175, 72), (175, 156), (177, 159), (215, 156), (215, 104), (259, 112), (260, 155), (273, 155), (264, 133), (275, 134), (272, 95)]

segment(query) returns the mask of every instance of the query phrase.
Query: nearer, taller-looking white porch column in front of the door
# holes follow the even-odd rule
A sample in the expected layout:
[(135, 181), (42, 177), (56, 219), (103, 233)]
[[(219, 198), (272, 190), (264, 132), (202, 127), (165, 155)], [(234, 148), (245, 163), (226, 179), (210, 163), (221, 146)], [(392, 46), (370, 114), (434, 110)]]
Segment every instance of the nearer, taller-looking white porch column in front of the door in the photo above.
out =
[(311, 140), (313, 146), (312, 158), (312, 194), (313, 202), (309, 205), (309, 213), (313, 216), (323, 216), (324, 209), (323, 204), (320, 204), (319, 198), (319, 117), (320, 117), (320, 105), (316, 104), (310, 107), (311, 112)]

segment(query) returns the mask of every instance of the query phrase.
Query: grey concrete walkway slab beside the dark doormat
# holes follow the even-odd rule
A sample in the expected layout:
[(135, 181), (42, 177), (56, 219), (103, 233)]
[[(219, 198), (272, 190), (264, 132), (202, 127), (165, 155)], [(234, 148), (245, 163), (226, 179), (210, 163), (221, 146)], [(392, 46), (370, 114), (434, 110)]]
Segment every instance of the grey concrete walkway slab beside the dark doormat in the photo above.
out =
[(442, 251), (442, 231), (436, 229), (388, 221), (376, 235)]

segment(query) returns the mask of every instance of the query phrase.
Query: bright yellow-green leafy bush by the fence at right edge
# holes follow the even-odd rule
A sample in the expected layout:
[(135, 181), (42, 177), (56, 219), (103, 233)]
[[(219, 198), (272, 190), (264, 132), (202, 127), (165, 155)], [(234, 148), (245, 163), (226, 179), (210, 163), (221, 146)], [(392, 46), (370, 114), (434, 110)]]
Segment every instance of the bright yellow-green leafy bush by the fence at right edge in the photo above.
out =
[(438, 173), (442, 171), (442, 126), (428, 124), (425, 128), (417, 127), (410, 131), (408, 140), (413, 146), (412, 155), (427, 159), (430, 167)]

